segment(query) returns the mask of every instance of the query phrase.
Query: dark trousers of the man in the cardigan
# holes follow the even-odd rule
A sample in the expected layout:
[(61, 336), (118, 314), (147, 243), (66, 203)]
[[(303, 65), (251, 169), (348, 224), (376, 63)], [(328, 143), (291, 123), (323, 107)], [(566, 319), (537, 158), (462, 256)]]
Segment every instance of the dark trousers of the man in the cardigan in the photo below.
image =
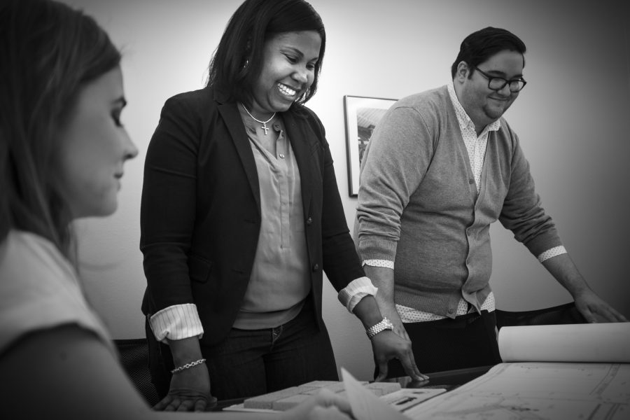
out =
[[(494, 312), (403, 325), (412, 340), (416, 365), (422, 373), (501, 363)], [(406, 373), (400, 362), (391, 360), (387, 377), (402, 376)]]

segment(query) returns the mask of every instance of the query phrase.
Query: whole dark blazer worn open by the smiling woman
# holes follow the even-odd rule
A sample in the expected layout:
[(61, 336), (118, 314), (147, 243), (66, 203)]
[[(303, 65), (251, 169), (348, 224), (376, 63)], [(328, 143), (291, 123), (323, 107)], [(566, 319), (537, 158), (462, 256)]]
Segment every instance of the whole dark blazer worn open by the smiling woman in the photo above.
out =
[[(337, 290), (365, 274), (321, 121), (297, 107), (282, 117), (300, 169), (310, 297), (321, 325), (322, 269)], [(247, 288), (260, 220), (258, 173), (237, 105), (211, 87), (168, 99), (144, 168), (144, 314), (193, 302), (204, 326), (202, 344), (220, 342)]]

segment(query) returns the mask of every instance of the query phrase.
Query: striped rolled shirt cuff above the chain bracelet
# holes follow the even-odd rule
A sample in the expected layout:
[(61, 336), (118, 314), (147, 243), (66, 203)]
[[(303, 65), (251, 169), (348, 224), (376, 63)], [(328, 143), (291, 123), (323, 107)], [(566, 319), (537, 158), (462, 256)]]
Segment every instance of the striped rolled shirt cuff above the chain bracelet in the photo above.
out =
[(162, 309), (149, 320), (155, 339), (168, 344), (168, 339), (201, 338), (204, 328), (194, 303), (176, 304)]

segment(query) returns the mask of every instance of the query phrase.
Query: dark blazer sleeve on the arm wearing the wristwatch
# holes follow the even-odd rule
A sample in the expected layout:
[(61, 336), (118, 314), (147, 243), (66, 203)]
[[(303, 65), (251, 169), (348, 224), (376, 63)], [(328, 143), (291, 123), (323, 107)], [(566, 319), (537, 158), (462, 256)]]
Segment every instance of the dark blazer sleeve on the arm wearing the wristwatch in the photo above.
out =
[(330, 146), (325, 139), (324, 127), (314, 113), (311, 112), (311, 116), (314, 121), (314, 130), (316, 130), (323, 148), (323, 160), (321, 160), (323, 269), (330, 283), (338, 292), (348, 286), (351, 281), (365, 276), (365, 273), (346, 222)]

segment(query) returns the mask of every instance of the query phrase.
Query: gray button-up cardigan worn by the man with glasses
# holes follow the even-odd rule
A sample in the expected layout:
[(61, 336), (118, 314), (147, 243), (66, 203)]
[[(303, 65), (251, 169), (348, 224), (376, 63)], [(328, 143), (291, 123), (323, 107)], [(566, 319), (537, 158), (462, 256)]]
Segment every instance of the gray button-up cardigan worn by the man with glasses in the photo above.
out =
[(453, 318), (463, 295), (479, 309), (497, 219), (534, 255), (561, 245), (507, 122), (489, 134), (477, 196), (447, 87), (396, 102), (365, 151), (355, 232), (362, 260), (395, 262), (395, 302)]

